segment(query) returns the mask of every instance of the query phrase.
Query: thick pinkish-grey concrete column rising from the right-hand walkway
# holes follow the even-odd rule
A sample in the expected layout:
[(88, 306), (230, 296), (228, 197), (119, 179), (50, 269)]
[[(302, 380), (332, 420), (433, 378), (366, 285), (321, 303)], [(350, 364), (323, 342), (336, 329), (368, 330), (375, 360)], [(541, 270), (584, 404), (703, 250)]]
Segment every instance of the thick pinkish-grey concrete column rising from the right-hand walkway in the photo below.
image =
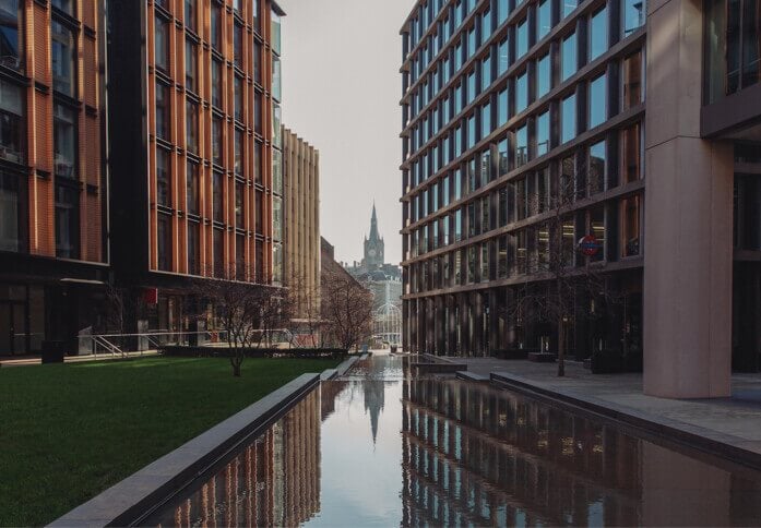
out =
[(700, 137), (700, 0), (647, 5), (644, 392), (730, 394), (732, 144)]

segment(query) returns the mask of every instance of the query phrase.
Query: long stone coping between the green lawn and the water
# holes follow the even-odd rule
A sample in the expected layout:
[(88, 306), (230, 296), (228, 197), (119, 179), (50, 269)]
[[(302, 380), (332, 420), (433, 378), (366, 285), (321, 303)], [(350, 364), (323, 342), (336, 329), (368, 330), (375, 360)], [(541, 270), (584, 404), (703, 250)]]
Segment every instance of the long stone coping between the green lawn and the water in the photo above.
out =
[(49, 526), (126, 526), (138, 521), (251, 434), (270, 425), (319, 382), (320, 374), (301, 374)]

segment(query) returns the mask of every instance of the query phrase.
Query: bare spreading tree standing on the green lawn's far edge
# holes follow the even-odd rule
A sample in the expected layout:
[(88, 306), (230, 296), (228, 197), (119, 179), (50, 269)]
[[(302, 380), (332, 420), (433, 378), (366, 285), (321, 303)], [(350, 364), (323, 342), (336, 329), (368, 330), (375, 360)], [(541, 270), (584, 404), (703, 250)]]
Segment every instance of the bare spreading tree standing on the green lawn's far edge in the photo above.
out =
[(265, 277), (247, 281), (257, 275), (246, 273), (241, 264), (222, 274), (217, 269), (217, 277), (199, 279), (195, 293), (212, 303), (216, 324), (227, 334), (233, 375), (239, 377), (246, 350), (271, 344), (274, 331), (288, 317), (288, 305), (282, 288), (263, 284)]

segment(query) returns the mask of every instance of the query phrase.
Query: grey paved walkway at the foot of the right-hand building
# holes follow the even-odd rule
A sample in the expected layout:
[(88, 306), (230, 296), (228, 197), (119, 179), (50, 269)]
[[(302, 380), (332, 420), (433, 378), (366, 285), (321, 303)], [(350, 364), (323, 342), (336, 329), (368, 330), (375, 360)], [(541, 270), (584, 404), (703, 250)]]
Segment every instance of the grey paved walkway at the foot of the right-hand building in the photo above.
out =
[(556, 363), (494, 358), (457, 358), (471, 373), (508, 373), (538, 388), (580, 399), (594, 398), (611, 408), (629, 409), (654, 421), (761, 454), (761, 374), (733, 375), (733, 396), (714, 399), (668, 399), (642, 394), (642, 374), (592, 374), (581, 363), (567, 362), (566, 376)]

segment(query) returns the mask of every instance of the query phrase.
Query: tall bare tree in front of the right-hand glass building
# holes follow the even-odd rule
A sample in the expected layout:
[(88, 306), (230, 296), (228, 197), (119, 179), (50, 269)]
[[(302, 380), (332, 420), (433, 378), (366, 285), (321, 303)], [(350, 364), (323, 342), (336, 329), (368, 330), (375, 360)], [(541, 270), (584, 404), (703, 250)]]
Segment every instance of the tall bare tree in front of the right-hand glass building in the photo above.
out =
[(586, 163), (574, 165), (573, 158), (563, 160), (557, 180), (546, 182), (545, 192), (535, 192), (527, 200), (530, 213), (542, 214), (544, 219), (533, 228), (536, 249), (525, 249), (519, 264), (525, 279), (515, 290), (514, 302), (507, 307), (513, 320), (556, 326), (558, 376), (566, 374), (567, 325), (584, 316), (576, 310), (578, 300), (595, 299), (603, 304), (617, 300), (599, 266), (591, 262), (602, 247), (590, 237), (584, 247), (590, 254), (584, 254), (575, 233), (575, 212), (583, 205), (579, 202), (602, 190), (603, 172), (597, 167), (587, 170)]

